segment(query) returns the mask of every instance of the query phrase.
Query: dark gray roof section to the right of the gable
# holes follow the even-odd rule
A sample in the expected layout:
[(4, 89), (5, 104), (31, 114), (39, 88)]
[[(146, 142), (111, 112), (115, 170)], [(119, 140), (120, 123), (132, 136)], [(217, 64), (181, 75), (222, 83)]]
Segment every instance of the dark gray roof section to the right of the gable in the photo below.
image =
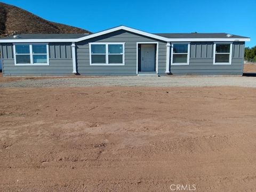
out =
[(155, 35), (166, 38), (249, 38), (239, 35), (227, 37), (227, 33), (159, 33)]

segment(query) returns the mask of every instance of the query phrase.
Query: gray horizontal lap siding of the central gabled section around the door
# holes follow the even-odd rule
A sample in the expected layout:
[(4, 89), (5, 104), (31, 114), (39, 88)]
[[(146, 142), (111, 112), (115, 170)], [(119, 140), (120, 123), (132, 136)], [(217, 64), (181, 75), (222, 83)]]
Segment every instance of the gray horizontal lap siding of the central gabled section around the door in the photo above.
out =
[[(90, 66), (89, 43), (125, 43), (124, 66)], [(165, 74), (166, 42), (134, 34), (125, 30), (101, 35), (76, 43), (77, 71), (81, 75), (137, 75), (137, 42), (158, 42), (158, 74)]]

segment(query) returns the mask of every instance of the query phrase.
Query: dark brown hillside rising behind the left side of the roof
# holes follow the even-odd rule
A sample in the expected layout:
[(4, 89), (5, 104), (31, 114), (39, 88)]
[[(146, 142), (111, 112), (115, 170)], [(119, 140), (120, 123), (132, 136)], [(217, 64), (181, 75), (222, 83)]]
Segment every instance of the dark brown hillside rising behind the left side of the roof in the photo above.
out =
[(19, 7), (0, 2), (0, 36), (12, 34), (84, 34), (90, 31), (50, 22)]

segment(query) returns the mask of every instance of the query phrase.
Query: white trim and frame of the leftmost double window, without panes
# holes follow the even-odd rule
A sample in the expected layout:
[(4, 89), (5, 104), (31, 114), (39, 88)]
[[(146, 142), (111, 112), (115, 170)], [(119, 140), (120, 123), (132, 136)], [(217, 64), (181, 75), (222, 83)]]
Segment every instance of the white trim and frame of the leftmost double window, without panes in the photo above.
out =
[[(16, 50), (15, 50), (15, 45), (29, 45), (29, 53), (26, 53), (26, 54), (30, 55), (30, 63), (16, 63), (16, 55), (26, 55), (26, 54), (17, 54)], [(33, 63), (33, 55), (36, 55), (37, 53), (33, 53), (32, 45), (46, 45), (47, 63)], [(45, 53), (42, 53), (42, 54), (45, 54)], [(14, 43), (13, 44), (13, 57), (14, 57), (14, 66), (49, 66), (50, 65), (49, 44), (48, 43)]]

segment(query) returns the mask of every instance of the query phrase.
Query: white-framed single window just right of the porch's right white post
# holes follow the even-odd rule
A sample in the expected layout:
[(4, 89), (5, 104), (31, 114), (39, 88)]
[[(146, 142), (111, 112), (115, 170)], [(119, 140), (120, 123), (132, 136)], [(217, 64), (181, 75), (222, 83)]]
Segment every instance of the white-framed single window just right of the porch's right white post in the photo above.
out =
[(190, 43), (172, 43), (171, 65), (189, 65)]

